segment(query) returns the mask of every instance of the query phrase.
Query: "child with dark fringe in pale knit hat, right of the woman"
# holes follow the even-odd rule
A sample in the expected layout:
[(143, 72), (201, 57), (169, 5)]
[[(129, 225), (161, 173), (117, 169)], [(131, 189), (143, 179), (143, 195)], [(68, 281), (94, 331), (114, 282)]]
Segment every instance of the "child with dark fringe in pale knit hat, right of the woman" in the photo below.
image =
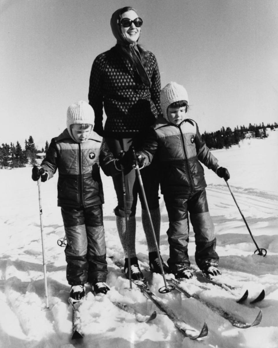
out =
[[(216, 238), (206, 198), (206, 181), (202, 162), (219, 177), (228, 180), (226, 168), (219, 167), (199, 133), (198, 125), (186, 119), (188, 95), (186, 89), (170, 82), (160, 95), (163, 117), (152, 127), (137, 159), (148, 165), (156, 154), (160, 165), (160, 187), (169, 217), (167, 231), (170, 246), (169, 270), (177, 278), (192, 278), (187, 246), (188, 212), (195, 234), (195, 261), (206, 277), (220, 275)], [(131, 154), (126, 154), (128, 162)]]

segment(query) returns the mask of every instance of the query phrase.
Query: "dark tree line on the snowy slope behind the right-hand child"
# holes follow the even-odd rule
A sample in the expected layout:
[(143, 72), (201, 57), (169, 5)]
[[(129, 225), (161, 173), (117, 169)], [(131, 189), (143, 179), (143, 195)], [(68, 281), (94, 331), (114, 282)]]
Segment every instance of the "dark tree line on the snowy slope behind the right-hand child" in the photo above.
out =
[(249, 123), (248, 127), (240, 126), (232, 130), (230, 127), (226, 129), (222, 127), (216, 132), (202, 134), (203, 140), (206, 142), (209, 149), (229, 149), (232, 145), (238, 145), (240, 140), (246, 137), (260, 138), (264, 139), (268, 137), (267, 128), (271, 130), (278, 128), (276, 122), (274, 124), (267, 124), (266, 126), (262, 123), (260, 125), (251, 125)]

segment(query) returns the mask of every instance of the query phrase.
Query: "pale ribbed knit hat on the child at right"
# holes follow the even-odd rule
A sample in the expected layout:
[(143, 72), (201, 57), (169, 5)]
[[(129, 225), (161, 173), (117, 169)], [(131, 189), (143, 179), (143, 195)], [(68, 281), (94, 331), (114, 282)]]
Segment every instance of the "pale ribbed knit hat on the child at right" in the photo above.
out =
[(177, 82), (170, 82), (160, 92), (160, 104), (163, 117), (169, 121), (167, 116), (168, 106), (174, 102), (185, 100), (188, 103), (188, 94), (184, 86), (177, 84)]

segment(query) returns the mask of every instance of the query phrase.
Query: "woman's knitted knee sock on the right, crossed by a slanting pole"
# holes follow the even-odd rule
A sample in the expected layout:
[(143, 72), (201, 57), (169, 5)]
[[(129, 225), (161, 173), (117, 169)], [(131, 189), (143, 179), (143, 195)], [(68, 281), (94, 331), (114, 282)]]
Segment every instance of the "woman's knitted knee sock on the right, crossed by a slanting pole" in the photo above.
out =
[[(160, 209), (156, 208), (150, 210), (150, 217), (152, 218), (154, 233), (157, 240), (157, 245), (159, 246), (159, 236), (160, 236)], [(142, 224), (143, 229), (146, 235), (148, 251), (153, 252), (156, 251), (155, 241), (153, 238), (152, 226), (149, 222), (149, 216), (146, 209), (142, 209)]]

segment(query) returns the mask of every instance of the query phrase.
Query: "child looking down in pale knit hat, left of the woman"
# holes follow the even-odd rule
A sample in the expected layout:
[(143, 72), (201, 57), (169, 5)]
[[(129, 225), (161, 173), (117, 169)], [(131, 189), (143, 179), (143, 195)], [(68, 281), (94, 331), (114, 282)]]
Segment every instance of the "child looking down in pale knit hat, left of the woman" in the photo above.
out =
[(67, 128), (51, 140), (41, 166), (34, 166), (32, 179), (44, 182), (58, 169), (58, 206), (61, 207), (67, 246), (67, 280), (70, 297), (79, 301), (84, 284), (106, 294), (107, 262), (103, 228), (103, 189), (99, 166), (115, 175), (115, 160), (102, 138), (93, 132), (94, 111), (85, 101), (69, 106)]

